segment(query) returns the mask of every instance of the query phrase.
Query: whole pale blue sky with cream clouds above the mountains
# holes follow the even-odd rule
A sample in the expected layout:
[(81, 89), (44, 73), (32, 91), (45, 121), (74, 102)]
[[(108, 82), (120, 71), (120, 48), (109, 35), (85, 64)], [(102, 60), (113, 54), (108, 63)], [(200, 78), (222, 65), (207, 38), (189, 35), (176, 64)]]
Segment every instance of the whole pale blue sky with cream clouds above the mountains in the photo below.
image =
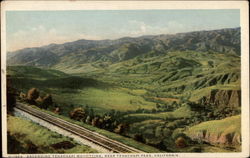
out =
[(7, 51), (142, 35), (240, 27), (239, 10), (7, 11)]

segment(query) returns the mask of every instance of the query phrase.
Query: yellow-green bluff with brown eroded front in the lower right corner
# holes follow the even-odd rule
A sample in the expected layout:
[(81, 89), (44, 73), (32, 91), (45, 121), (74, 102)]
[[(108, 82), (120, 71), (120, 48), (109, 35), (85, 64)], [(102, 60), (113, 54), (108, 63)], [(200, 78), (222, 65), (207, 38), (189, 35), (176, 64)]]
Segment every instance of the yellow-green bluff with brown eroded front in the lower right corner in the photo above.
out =
[(213, 120), (190, 127), (187, 132), (192, 140), (203, 141), (219, 146), (241, 145), (240, 115), (222, 120)]

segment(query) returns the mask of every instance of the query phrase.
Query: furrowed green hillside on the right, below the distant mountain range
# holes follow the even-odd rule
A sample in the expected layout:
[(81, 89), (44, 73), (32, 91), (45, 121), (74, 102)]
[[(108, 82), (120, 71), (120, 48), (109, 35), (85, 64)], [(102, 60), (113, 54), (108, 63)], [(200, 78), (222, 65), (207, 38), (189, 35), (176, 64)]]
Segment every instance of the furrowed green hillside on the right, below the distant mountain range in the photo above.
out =
[(240, 89), (239, 72), (238, 56), (184, 51), (140, 56), (84, 75), (97, 74), (99, 80), (161, 97), (190, 95), (196, 101), (214, 88)]

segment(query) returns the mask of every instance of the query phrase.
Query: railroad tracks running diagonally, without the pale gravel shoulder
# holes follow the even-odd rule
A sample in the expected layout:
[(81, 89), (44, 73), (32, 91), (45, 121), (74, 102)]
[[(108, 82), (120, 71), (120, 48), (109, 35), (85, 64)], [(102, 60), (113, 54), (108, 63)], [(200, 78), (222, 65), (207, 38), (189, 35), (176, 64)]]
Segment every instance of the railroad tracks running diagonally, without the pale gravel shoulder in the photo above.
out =
[(96, 132), (90, 131), (84, 127), (67, 122), (65, 120), (62, 120), (45, 112), (39, 111), (25, 104), (17, 102), (16, 108), (26, 113), (29, 113), (39, 119), (42, 119), (46, 122), (49, 122), (50, 124), (60, 127), (68, 132), (71, 132), (72, 134), (75, 134), (81, 138), (91, 141), (105, 149), (108, 149), (109, 151), (115, 153), (143, 153), (143, 151), (129, 147), (125, 144), (109, 139), (105, 136), (102, 136)]

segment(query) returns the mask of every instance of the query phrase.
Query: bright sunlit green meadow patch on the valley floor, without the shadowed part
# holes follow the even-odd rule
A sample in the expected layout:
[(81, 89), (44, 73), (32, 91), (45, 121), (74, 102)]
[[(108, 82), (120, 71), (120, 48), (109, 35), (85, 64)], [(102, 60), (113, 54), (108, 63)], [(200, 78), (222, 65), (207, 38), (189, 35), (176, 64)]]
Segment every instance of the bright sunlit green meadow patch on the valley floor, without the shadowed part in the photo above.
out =
[(59, 93), (55, 94), (55, 99), (59, 103), (66, 104), (85, 104), (99, 110), (136, 110), (138, 108), (152, 109), (155, 103), (145, 101), (141, 96), (131, 95), (120, 88), (99, 89), (85, 88), (77, 93)]

